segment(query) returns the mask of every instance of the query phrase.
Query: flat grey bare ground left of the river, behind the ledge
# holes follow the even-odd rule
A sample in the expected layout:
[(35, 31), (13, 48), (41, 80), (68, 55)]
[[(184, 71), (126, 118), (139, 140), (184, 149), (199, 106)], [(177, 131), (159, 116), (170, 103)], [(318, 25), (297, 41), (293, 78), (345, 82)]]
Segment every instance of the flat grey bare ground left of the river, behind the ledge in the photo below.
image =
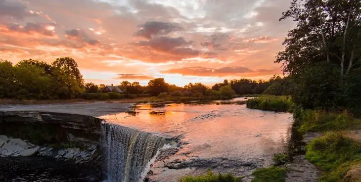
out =
[(46, 111), (89, 116), (103, 116), (132, 110), (134, 103), (92, 103), (36, 104), (36, 105), (0, 105), (0, 111)]

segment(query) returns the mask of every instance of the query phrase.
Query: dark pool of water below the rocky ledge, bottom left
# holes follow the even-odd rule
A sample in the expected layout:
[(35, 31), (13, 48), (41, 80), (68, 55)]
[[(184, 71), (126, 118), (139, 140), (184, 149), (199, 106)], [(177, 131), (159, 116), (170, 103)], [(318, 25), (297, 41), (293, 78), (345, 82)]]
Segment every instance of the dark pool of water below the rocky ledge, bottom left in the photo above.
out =
[(98, 182), (100, 174), (90, 165), (52, 158), (0, 158), (0, 182)]

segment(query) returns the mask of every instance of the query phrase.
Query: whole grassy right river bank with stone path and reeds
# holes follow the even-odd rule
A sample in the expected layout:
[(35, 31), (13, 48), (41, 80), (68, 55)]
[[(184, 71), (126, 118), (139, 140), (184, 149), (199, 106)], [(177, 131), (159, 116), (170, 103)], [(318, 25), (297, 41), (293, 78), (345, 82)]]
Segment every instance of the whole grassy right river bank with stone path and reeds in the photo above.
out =
[[(270, 110), (274, 103), (293, 105), (284, 98), (261, 96), (249, 100), (247, 107)], [(287, 170), (286, 182), (361, 181), (360, 175), (356, 175), (361, 163), (360, 119), (346, 111), (326, 112), (295, 106), (288, 111), (294, 113), (292, 135), (296, 138), (288, 151), (292, 160), (282, 166)]]

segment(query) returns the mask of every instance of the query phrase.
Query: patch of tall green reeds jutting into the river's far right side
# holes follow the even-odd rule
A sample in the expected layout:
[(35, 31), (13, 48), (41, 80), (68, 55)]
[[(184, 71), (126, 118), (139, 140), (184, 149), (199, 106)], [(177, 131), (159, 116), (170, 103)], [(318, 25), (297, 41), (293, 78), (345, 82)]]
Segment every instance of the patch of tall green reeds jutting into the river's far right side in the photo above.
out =
[(292, 102), (291, 96), (263, 95), (248, 99), (247, 107), (269, 111), (293, 112), (295, 104)]

